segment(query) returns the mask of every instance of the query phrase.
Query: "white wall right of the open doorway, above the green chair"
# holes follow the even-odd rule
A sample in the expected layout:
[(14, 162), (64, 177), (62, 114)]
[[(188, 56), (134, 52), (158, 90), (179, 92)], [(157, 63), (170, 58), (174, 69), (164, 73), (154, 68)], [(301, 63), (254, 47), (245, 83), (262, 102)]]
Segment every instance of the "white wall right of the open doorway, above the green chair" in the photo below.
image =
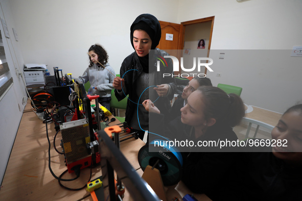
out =
[[(284, 51), (273, 57), (267, 51), (255, 53), (267, 55), (257, 59), (228, 51), (302, 46), (302, 1), (180, 0), (179, 8), (178, 23), (215, 16), (211, 49), (220, 51), (211, 52), (214, 72), (207, 74), (214, 86), (241, 86), (245, 103), (281, 113), (302, 101), (302, 57), (293, 58)], [(226, 53), (224, 60), (218, 59), (219, 53)]]

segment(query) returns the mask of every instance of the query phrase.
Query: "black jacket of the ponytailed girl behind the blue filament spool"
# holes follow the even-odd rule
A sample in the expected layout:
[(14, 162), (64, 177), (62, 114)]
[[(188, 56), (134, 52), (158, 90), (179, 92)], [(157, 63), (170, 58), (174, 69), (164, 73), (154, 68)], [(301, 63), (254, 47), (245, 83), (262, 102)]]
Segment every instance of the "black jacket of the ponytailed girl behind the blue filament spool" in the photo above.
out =
[[(150, 113), (150, 121), (154, 123), (149, 126), (152, 133), (164, 136), (170, 140), (193, 140), (190, 133), (194, 133), (192, 127), (181, 122), (181, 117), (177, 117), (166, 125), (162, 125), (164, 115)], [(149, 141), (155, 140), (158, 136), (149, 133)], [(182, 182), (194, 193), (205, 193), (210, 198), (215, 198), (217, 187), (221, 181), (226, 181), (228, 173), (234, 169), (235, 161), (239, 153), (228, 148), (195, 146), (197, 141), (237, 141), (237, 135), (233, 129), (222, 124), (215, 124), (209, 127), (206, 133), (194, 140), (192, 147), (178, 147), (181, 150), (183, 159)]]

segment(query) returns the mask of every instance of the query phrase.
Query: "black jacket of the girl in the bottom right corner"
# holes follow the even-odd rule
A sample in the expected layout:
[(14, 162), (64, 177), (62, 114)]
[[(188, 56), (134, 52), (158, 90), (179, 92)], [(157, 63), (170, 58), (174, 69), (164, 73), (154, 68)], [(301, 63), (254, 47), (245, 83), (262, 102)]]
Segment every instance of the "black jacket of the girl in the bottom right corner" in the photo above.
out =
[[(267, 152), (241, 153), (223, 191), (233, 200), (302, 200), (302, 167), (291, 167)], [(237, 191), (231, 191), (233, 186)], [(222, 200), (222, 199), (221, 199)]]

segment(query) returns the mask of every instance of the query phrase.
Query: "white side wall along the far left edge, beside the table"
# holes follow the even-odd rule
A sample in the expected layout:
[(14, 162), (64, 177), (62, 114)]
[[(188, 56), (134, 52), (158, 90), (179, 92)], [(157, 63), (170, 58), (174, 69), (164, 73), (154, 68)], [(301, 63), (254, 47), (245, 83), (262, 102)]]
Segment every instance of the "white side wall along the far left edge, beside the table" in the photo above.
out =
[(22, 78), (16, 73), (18, 71), (20, 72), (20, 69), (22, 69), (21, 65), (24, 62), (19, 42), (15, 40), (12, 30), (12, 28), (14, 28), (18, 32), (18, 29), (13, 20), (9, 1), (0, 0), (0, 4), (0, 17), (6, 21), (10, 38), (5, 37), (1, 23), (0, 30), (2, 32), (6, 60), (14, 82), (12, 87), (7, 90), (0, 100), (0, 182), (2, 183), (11, 148), (18, 130), (18, 125), (24, 111), (22, 98), (27, 95)]

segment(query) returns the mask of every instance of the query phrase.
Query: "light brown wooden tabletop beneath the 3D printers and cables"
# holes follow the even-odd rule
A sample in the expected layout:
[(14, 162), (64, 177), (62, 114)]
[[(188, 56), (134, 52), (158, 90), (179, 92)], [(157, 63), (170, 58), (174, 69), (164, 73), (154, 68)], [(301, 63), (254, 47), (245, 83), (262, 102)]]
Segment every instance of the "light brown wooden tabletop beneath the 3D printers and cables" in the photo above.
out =
[[(92, 200), (90, 194), (85, 190), (70, 191), (59, 186), (58, 180), (53, 177), (49, 170), (48, 140), (46, 135), (46, 125), (30, 109), (27, 104), (22, 116), (16, 139), (12, 148), (11, 156), (4, 175), (2, 188), (0, 190), (0, 200)], [(111, 116), (112, 117), (112, 116)], [(118, 120), (109, 123), (115, 125)], [(48, 134), (51, 142), (51, 168), (57, 177), (64, 172), (67, 167), (64, 163), (64, 156), (56, 152), (53, 147), (53, 140), (56, 134), (54, 123), (48, 124)], [(60, 132), (56, 138), (56, 147), (59, 151)], [(137, 161), (138, 150), (145, 145), (140, 139), (131, 138), (123, 141), (120, 148), (126, 159), (137, 170), (139, 175), (143, 174)], [(91, 180), (102, 175), (101, 167), (92, 168)], [(61, 182), (69, 188), (80, 188), (89, 180), (90, 168), (81, 170), (80, 178), (73, 182)], [(74, 173), (66, 173), (62, 178), (75, 178)], [(177, 196), (182, 198), (185, 194), (192, 192), (185, 187), (182, 182), (176, 186), (166, 188), (168, 200)], [(198, 200), (211, 200), (204, 194), (194, 194)], [(129, 193), (125, 192), (124, 200), (132, 200)]]

